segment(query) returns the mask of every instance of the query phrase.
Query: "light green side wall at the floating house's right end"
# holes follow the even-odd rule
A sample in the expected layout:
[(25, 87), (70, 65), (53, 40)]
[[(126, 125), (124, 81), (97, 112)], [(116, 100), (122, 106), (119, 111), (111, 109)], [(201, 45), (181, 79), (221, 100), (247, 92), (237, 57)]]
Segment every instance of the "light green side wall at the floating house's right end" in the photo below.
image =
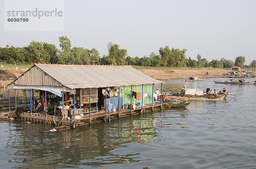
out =
[[(142, 96), (142, 85), (133, 85), (132, 91), (140, 92), (141, 98), (143, 97), (143, 104), (152, 103), (152, 84), (143, 85), (143, 93), (148, 93), (148, 97)], [(131, 86), (124, 86), (123, 93), (123, 104), (131, 103)], [(143, 94), (144, 95), (144, 94)], [(142, 99), (136, 100), (132, 97), (132, 103), (142, 102)]]

